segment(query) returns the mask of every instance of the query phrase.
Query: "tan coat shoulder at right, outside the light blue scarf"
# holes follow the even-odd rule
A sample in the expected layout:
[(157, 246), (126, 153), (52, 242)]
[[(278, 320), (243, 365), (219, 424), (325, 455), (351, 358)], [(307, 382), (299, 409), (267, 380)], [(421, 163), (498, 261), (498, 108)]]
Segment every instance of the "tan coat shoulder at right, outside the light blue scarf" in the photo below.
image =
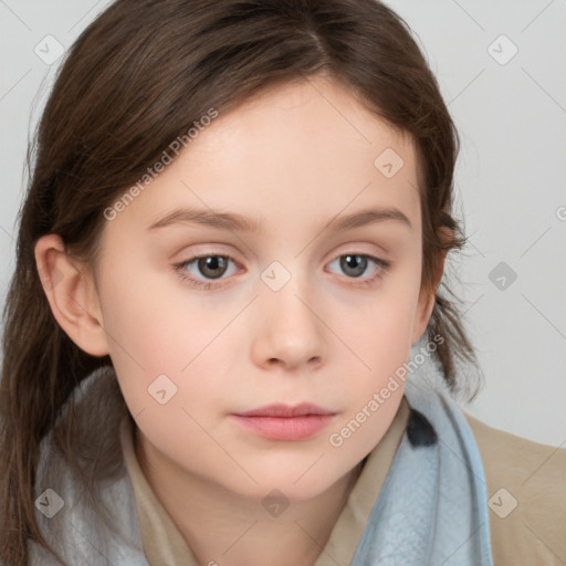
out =
[(484, 467), (494, 566), (566, 564), (566, 450), (463, 413)]

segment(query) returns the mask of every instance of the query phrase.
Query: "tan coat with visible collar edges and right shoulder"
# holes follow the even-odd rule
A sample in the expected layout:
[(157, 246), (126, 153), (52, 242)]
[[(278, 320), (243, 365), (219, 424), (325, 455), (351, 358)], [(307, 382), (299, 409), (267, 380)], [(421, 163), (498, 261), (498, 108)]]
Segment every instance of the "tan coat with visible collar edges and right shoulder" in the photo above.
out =
[[(389, 429), (368, 454), (314, 566), (350, 564), (407, 428), (409, 413), (403, 397)], [(464, 415), (485, 469), (494, 566), (566, 564), (566, 450), (531, 442), (488, 427), (465, 411)], [(129, 419), (123, 421), (120, 441), (148, 563), (151, 566), (199, 566), (142, 472)]]

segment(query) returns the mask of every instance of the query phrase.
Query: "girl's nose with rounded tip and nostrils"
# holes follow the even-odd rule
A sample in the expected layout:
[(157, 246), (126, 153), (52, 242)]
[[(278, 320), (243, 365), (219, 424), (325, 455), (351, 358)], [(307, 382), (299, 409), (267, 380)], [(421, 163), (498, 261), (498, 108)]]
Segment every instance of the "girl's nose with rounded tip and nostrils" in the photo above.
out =
[(326, 359), (327, 333), (319, 301), (294, 280), (279, 291), (262, 289), (256, 301), (252, 357), (263, 369), (313, 370)]

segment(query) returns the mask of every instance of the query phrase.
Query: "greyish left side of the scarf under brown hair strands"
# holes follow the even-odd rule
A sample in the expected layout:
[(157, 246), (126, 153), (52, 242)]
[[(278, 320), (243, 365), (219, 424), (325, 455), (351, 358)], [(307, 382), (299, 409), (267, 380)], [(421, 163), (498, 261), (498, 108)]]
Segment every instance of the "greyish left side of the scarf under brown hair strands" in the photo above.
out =
[[(123, 411), (109, 374), (86, 378), (40, 443), (35, 518), (66, 564), (147, 566), (134, 491), (116, 431)], [(72, 410), (71, 410), (72, 409)], [(60, 564), (30, 544), (31, 565)]]

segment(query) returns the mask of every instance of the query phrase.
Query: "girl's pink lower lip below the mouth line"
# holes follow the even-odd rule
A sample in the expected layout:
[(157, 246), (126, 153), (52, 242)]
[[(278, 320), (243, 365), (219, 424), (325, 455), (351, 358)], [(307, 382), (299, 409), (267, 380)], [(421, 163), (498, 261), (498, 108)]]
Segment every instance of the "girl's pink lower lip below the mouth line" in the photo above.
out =
[(271, 440), (304, 440), (327, 427), (334, 415), (302, 417), (232, 417), (244, 428)]

